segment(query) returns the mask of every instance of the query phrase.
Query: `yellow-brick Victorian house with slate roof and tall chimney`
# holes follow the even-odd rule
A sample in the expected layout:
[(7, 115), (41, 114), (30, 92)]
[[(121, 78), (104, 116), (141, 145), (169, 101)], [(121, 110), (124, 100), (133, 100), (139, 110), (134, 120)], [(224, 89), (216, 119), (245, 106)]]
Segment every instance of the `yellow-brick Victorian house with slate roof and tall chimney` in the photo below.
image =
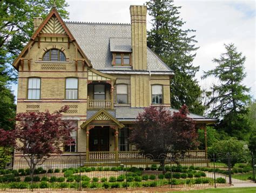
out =
[[(64, 155), (132, 156), (127, 137), (138, 113), (150, 105), (177, 111), (170, 104), (174, 73), (146, 45), (146, 12), (131, 5), (131, 24), (64, 22), (56, 8), (35, 18), (35, 32), (12, 64), (19, 71), (17, 113), (68, 105), (64, 119), (78, 130)], [(190, 116), (203, 129), (214, 122)]]

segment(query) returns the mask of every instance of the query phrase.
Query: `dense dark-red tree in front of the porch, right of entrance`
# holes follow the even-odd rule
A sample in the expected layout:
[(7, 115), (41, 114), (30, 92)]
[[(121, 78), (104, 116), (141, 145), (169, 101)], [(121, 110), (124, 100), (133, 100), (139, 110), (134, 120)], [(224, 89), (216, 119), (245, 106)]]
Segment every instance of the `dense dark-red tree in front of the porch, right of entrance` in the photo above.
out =
[[(134, 122), (129, 141), (156, 160), (161, 154), (186, 151), (196, 144), (197, 139), (194, 121), (187, 114), (185, 105), (173, 114), (164, 107), (147, 107)], [(163, 165), (164, 160), (161, 160)]]

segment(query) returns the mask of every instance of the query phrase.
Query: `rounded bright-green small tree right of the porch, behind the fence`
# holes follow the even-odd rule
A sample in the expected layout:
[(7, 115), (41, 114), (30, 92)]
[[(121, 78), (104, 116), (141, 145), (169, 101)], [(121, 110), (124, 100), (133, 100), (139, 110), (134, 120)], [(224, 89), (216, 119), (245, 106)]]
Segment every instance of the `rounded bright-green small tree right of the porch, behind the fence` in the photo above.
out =
[(220, 161), (226, 164), (228, 164), (227, 153), (230, 154), (231, 166), (235, 163), (247, 162), (250, 157), (245, 141), (239, 141), (235, 137), (215, 142), (212, 147), (208, 148), (208, 153), (211, 155), (214, 153), (215, 157), (220, 158)]

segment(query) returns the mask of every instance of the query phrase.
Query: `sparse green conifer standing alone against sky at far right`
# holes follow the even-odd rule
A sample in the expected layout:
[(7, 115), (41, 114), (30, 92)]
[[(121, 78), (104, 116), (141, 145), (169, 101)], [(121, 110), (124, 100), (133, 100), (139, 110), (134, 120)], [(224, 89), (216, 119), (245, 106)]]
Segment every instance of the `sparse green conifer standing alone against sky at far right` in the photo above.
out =
[(246, 77), (244, 72), (245, 57), (237, 51), (234, 44), (224, 44), (226, 52), (220, 58), (214, 58), (217, 63), (215, 69), (204, 72), (203, 79), (213, 76), (218, 78), (219, 84), (211, 88), (212, 95), (208, 105), (212, 105), (210, 116), (221, 119), (217, 128), (225, 130), (230, 136), (244, 139), (244, 134), (250, 130), (250, 125), (245, 115), (248, 112), (247, 105), (250, 88), (242, 85)]

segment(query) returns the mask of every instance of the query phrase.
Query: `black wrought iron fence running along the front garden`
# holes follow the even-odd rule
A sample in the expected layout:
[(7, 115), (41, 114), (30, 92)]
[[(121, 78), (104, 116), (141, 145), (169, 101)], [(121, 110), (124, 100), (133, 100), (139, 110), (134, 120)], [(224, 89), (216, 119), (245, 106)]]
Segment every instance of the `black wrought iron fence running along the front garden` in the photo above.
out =
[(232, 164), (234, 157), (208, 155), (207, 159), (172, 158), (161, 154), (154, 158), (118, 162), (100, 160), (86, 162), (76, 158), (51, 157), (34, 174), (24, 159), (16, 160), (14, 168), (0, 170), (0, 190), (87, 190), (143, 187), (220, 187), (233, 183), (255, 182), (255, 158), (247, 163)]

